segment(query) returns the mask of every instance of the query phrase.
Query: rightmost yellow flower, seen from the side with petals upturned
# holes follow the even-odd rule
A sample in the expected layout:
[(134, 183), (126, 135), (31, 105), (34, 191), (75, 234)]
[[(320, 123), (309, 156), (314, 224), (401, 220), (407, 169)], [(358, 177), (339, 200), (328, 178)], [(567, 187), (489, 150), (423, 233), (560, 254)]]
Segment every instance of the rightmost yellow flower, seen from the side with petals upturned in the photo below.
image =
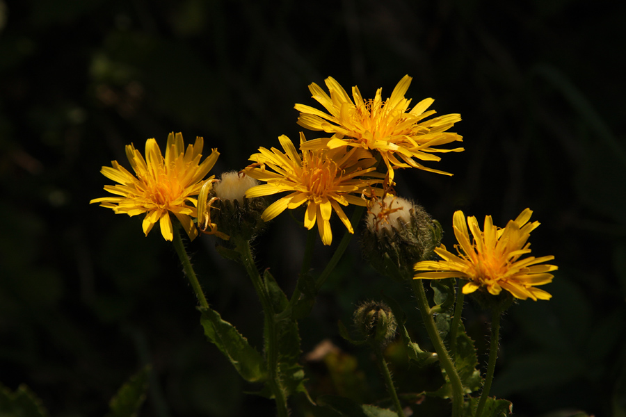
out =
[(556, 270), (556, 265), (539, 264), (551, 261), (554, 256), (528, 256), (520, 259), (520, 256), (531, 252), (527, 240), (530, 232), (539, 226), (539, 222), (528, 222), (532, 213), (527, 208), (515, 220), (510, 220), (504, 229), (495, 227), (490, 215), (485, 216), (484, 231), (481, 231), (474, 216), (468, 217), (467, 224), (474, 235), (472, 243), (467, 232), (465, 215), (462, 211), (456, 211), (454, 234), (458, 240), (458, 245), (455, 245), (458, 256), (441, 245), (435, 252), (443, 261), (416, 263), (416, 271), (429, 272), (418, 272), (415, 278), (459, 277), (470, 281), (463, 286), (464, 294), (484, 287), (492, 295), (498, 295), (504, 289), (521, 300), (549, 300), (552, 295), (535, 286), (552, 281), (554, 275), (549, 272)]

